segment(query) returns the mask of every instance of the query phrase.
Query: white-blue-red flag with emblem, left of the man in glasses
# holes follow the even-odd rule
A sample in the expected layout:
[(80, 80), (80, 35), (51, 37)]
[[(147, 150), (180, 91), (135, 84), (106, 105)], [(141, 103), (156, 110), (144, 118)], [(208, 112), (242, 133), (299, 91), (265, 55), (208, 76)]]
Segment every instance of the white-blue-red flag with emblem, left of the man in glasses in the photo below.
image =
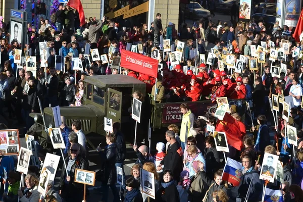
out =
[(233, 186), (239, 186), (242, 176), (242, 164), (227, 157), (227, 161), (223, 170), (222, 180), (228, 181)]

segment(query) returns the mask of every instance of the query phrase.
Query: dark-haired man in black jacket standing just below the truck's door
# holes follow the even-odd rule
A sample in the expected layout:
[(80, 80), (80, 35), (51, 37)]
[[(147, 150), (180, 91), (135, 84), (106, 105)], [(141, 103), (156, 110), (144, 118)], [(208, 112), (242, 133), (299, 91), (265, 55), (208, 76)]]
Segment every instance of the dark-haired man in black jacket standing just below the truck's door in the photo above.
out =
[(125, 138), (124, 134), (120, 130), (120, 123), (115, 122), (113, 123), (113, 132), (116, 136), (116, 145), (117, 145), (117, 159), (116, 159), (116, 170), (117, 167), (122, 168), (122, 174), (123, 174), (123, 189), (126, 189), (125, 185), (125, 173), (124, 173), (124, 168), (123, 168), (123, 162), (125, 160), (125, 155), (126, 155), (126, 145), (125, 145)]

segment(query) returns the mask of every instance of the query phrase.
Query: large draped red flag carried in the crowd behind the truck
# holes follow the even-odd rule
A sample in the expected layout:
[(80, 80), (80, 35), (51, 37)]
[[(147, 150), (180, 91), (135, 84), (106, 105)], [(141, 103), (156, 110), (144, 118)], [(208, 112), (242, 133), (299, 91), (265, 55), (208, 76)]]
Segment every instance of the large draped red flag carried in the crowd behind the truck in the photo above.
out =
[(227, 143), (238, 150), (241, 150), (242, 139), (240, 126), (230, 114), (225, 113), (222, 121), (218, 120), (216, 130), (218, 132), (225, 132)]

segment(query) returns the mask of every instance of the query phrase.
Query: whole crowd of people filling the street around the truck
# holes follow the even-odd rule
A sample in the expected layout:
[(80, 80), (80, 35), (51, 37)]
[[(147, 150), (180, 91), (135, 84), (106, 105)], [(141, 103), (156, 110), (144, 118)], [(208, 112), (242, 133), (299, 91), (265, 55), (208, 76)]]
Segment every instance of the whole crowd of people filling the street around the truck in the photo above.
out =
[[(214, 10), (212, 5), (210, 8)], [(223, 23), (214, 22), (211, 17), (195, 22), (192, 27), (183, 24), (177, 31), (171, 22), (167, 27), (162, 25), (160, 13), (156, 14), (149, 30), (146, 23), (123, 27), (107, 17), (99, 21), (95, 18), (86, 19), (86, 24), (80, 27), (77, 20), (68, 20), (75, 17), (76, 13), (69, 6), (60, 5), (51, 20), (41, 18), (38, 27), (29, 23), (29, 43), (26, 48), (29, 56), (36, 57), (36, 61), (27, 63), (21, 60), (21, 64), (15, 62), (20, 59), (17, 58), (20, 55), (15, 54), (17, 49), (21, 49), (20, 41), (12, 40), (9, 43), (9, 33), (12, 30), (1, 21), (0, 114), (7, 118), (9, 124), (16, 118), (20, 124), (25, 123), (28, 130), (31, 126), (29, 114), (39, 112), (38, 100), (41, 101), (42, 108), (49, 105), (81, 106), (85, 79), (94, 75), (121, 72), (144, 82), (146, 95), (154, 95), (157, 103), (184, 102), (180, 106), (181, 126), (168, 126), (166, 142), (157, 143), (156, 154), (149, 154), (147, 141), (144, 142), (145, 145), (141, 145), (141, 142), (133, 145), (138, 159), (132, 166), (130, 177), (127, 177), (128, 174), (123, 169), (126, 157), (125, 137), (120, 123), (113, 124), (112, 133), (106, 135), (107, 146), (97, 150), (102, 167), (96, 173), (96, 180), (102, 182), (100, 191), (103, 201), (109, 200), (109, 188), (113, 192), (114, 201), (119, 201), (119, 198), (126, 202), (260, 201), (265, 182), (259, 176), (265, 153), (279, 156), (284, 173), (283, 180), (268, 183), (267, 188), (280, 190), (285, 202), (298, 202), (303, 198), (303, 58), (300, 58), (301, 54), (296, 54), (302, 51), (303, 34), (292, 35), (288, 26), (280, 27), (278, 21), (271, 26), (264, 20)], [(175, 49), (164, 53), (162, 38), (169, 40), (170, 46), (174, 44)], [(47, 54), (40, 52), (40, 42), (43, 41), (47, 41)], [(119, 71), (120, 69), (111, 68), (113, 58), (120, 57), (128, 43), (142, 45), (142, 53), (137, 54), (157, 59), (159, 57), (157, 83), (156, 78), (131, 69), (119, 67)], [(108, 61), (100, 59), (91, 62), (90, 50), (85, 54), (87, 44), (90, 50), (97, 48), (99, 55), (106, 54)], [(155, 49), (159, 52), (154, 52)], [(279, 49), (282, 52), (280, 55)], [(181, 57), (171, 58), (173, 53), (170, 52), (179, 53)], [(48, 56), (47, 67), (42, 58), (45, 55)], [(65, 58), (61, 70), (55, 68), (57, 55)], [(88, 58), (84, 55), (88, 55)], [(73, 70), (73, 58), (80, 59), (83, 71)], [(36, 71), (27, 70), (34, 63)], [(147, 105), (146, 95), (138, 91), (133, 93), (133, 97), (142, 102), (145, 100), (142, 105)], [(279, 96), (279, 102), (272, 101), (274, 95)], [(233, 126), (238, 128), (236, 131), (240, 134), (241, 146), (239, 148), (231, 144), (230, 136), (227, 136), (229, 153), (225, 155), (241, 162), (243, 166), (239, 186), (222, 180), (226, 159), (224, 153), (217, 150), (214, 132), (207, 131), (210, 126), (218, 129), (222, 125), (215, 116), (216, 111), (196, 114), (186, 103), (199, 100), (211, 100), (214, 103), (220, 97), (245, 100), (251, 110), (251, 115), (247, 112), (244, 116), (237, 113), (237, 104), (231, 105), (228, 110)], [(287, 104), (290, 105), (289, 116), (286, 111), (287, 119), (284, 118), (283, 111), (283, 103), (286, 102), (284, 97), (288, 98)], [(278, 107), (276, 114), (271, 109), (272, 105)], [(148, 120), (146, 114), (141, 114), (143, 120)], [(82, 201), (84, 186), (75, 182), (75, 169), (89, 170), (86, 137), (81, 130), (80, 121), (74, 121), (71, 129), (66, 125), (64, 117), (61, 117), (61, 122), (60, 128), (66, 145), (65, 165), (62, 165), (59, 190), (56, 191), (53, 188), (54, 182), (49, 181), (45, 201)], [(296, 146), (288, 143), (287, 126), (296, 129)], [(8, 129), (3, 124), (1, 127)], [(147, 134), (148, 129), (143, 127), (145, 124), (138, 126), (138, 139)], [(275, 133), (275, 136), (270, 133)], [(35, 131), (27, 134), (34, 136), (41, 162), (46, 153), (57, 152), (50, 149), (52, 145), (40, 139)], [(221, 138), (218, 137), (219, 140)], [(18, 197), (20, 201), (30, 202), (40, 199), (38, 177), (41, 166), (29, 167), (24, 178), (25, 187), (21, 188), (21, 175), (14, 171), (14, 158), (2, 157), (1, 167), (6, 171), (5, 182), (8, 185), (3, 190), (3, 201), (17, 201)], [(116, 188), (117, 167), (123, 169), (123, 191), (120, 192)], [(148, 199), (147, 194), (141, 193), (140, 180), (143, 176), (140, 176), (140, 168), (155, 176), (155, 199)], [(4, 177), (3, 169), (0, 169), (0, 174)], [(266, 169), (271, 172), (272, 168), (268, 166)]]

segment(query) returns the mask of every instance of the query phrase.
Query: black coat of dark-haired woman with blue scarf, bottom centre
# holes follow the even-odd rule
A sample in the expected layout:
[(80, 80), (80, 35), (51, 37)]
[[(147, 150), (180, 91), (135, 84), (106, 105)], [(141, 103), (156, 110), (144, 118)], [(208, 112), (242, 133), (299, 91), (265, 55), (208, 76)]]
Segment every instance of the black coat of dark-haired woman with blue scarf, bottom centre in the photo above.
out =
[(156, 193), (156, 201), (158, 202), (179, 202), (180, 196), (176, 185), (173, 183), (168, 187), (161, 187)]

